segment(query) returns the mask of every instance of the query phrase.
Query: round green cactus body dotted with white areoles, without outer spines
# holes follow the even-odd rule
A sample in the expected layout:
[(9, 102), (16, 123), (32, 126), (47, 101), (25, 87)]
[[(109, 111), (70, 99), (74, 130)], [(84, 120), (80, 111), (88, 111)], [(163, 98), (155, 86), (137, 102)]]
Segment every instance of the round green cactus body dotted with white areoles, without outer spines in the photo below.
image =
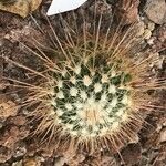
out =
[(52, 106), (59, 124), (72, 135), (104, 135), (127, 118), (131, 75), (118, 70), (121, 62), (101, 59), (102, 63), (96, 55), (73, 59), (73, 64), (62, 62), (62, 73), (54, 73)]

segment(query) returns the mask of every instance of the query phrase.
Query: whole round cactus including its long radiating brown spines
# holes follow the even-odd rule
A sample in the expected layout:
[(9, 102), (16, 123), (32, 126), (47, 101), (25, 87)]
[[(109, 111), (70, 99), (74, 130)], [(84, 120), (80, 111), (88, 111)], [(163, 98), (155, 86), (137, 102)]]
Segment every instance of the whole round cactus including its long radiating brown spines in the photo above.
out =
[(28, 90), (22, 104), (35, 105), (35, 134), (42, 133), (55, 148), (117, 152), (138, 137), (146, 115), (156, 108), (147, 92), (165, 89), (165, 79), (152, 74), (149, 65), (158, 58), (141, 49), (136, 23), (115, 28), (103, 13), (94, 12), (89, 21), (82, 10), (79, 13), (82, 17), (69, 12), (66, 20), (60, 15), (60, 34), (49, 21), (55, 61), (42, 49), (29, 48), (44, 72), (7, 60), (42, 82), (12, 81)]

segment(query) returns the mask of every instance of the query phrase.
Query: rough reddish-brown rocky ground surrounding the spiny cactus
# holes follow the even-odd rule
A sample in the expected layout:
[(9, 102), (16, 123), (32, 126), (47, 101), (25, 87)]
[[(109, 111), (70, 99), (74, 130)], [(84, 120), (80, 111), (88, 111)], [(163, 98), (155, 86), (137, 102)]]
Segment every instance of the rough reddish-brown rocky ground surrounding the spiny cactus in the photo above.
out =
[[(105, 10), (108, 14), (115, 11), (117, 18), (123, 15), (125, 25), (139, 20), (145, 44), (160, 59), (159, 64), (155, 64), (155, 69), (158, 75), (166, 77), (166, 9), (156, 12), (157, 9), (162, 9), (162, 0), (155, 0), (155, 2), (153, 0), (107, 0)], [(33, 37), (44, 45), (48, 44), (46, 38), (39, 38), (41, 33), (38, 25), (46, 31), (48, 22), (44, 13), (50, 3), (51, 1), (43, 0), (40, 8), (25, 19), (0, 11), (1, 55), (17, 62), (23, 61), (32, 69), (40, 70), (41, 65), (38, 59), (27, 58), (27, 52), (22, 53), (23, 48), (18, 41), (23, 41), (32, 48), (30, 39)], [(91, 7), (91, 2), (89, 4)], [(165, 17), (162, 15), (163, 12)], [(51, 17), (50, 20), (53, 22), (55, 18)], [(20, 70), (0, 58), (0, 79), (2, 75), (8, 75), (21, 80), (25, 74), (24, 70)], [(0, 166), (166, 166), (166, 110), (158, 108), (151, 113), (146, 117), (148, 124), (145, 123), (138, 133), (139, 139), (123, 147), (120, 152), (121, 155), (101, 152), (92, 155), (80, 153), (73, 156), (40, 147), (37, 144), (38, 139), (29, 137), (32, 131), (32, 125), (25, 117), (29, 111), (20, 107), (13, 110), (19, 105), (22, 94), (11, 90), (8, 86), (9, 81), (2, 79), (0, 81), (0, 103), (2, 103), (0, 105)], [(165, 106), (166, 92), (162, 90), (155, 93), (162, 106)], [(6, 112), (3, 108), (9, 105), (11, 108)]]

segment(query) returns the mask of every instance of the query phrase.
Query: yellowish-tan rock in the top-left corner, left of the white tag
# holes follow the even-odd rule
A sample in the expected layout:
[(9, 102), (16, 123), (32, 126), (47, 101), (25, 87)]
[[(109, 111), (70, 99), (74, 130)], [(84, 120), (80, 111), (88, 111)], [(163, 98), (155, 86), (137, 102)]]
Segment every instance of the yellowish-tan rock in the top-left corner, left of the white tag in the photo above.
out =
[[(9, 1), (9, 2), (8, 2)], [(11, 0), (7, 2), (0, 2), (0, 10), (15, 13), (25, 18), (30, 12), (38, 9), (42, 0), (14, 0), (10, 3)]]

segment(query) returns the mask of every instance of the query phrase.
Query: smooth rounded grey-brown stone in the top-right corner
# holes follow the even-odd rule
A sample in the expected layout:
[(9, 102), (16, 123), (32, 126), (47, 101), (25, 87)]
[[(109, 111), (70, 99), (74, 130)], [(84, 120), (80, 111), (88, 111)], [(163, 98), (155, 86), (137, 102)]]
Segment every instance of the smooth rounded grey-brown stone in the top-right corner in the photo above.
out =
[(166, 2), (165, 0), (147, 0), (144, 9), (149, 20), (157, 24), (166, 22)]

